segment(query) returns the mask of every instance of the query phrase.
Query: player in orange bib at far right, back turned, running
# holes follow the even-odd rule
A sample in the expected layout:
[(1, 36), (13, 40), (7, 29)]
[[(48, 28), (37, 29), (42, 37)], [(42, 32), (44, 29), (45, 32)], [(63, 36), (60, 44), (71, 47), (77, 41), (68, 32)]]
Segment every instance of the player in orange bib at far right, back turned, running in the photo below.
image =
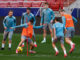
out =
[(77, 23), (77, 19), (70, 14), (65, 13), (64, 10), (60, 11), (60, 14), (65, 17), (65, 21), (63, 21), (63, 24), (65, 25), (67, 32), (65, 34), (65, 40), (66, 43), (68, 43), (71, 46), (71, 49), (69, 53), (73, 52), (75, 49), (75, 43), (71, 41), (71, 38), (75, 34), (75, 27), (74, 25)]

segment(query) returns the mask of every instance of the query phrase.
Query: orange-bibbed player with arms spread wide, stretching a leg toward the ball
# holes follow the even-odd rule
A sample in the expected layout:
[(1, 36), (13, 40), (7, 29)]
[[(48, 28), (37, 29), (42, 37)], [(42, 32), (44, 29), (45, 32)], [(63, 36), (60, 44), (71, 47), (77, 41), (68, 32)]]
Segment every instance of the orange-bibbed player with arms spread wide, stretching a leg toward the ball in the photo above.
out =
[[(31, 19), (28, 23), (25, 23), (19, 26), (15, 26), (13, 28), (19, 28), (19, 27), (25, 27), (25, 28), (23, 28), (22, 30), (21, 42), (19, 43), (18, 47), (21, 47), (22, 43), (28, 40), (28, 43), (30, 44), (29, 53), (36, 53), (35, 51), (32, 50), (34, 48), (33, 41), (31, 40), (32, 35), (33, 35), (33, 29), (42, 28), (43, 26), (34, 26), (33, 19)], [(18, 53), (17, 49), (16, 49), (16, 53)]]

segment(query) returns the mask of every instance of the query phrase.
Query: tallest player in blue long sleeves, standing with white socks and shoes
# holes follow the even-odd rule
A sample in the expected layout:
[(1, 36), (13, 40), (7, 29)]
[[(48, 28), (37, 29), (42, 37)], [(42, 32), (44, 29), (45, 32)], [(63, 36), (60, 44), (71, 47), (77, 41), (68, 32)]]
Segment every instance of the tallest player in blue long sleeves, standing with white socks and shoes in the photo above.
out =
[(51, 38), (53, 41), (53, 33), (52, 33), (52, 23), (53, 20), (55, 19), (54, 12), (52, 9), (49, 8), (49, 4), (45, 3), (44, 4), (44, 10), (42, 11), (42, 16), (41, 16), (41, 23), (40, 25), (44, 25), (45, 27), (43, 28), (43, 41), (41, 43), (46, 42), (46, 29), (49, 27), (50, 33), (51, 33)]

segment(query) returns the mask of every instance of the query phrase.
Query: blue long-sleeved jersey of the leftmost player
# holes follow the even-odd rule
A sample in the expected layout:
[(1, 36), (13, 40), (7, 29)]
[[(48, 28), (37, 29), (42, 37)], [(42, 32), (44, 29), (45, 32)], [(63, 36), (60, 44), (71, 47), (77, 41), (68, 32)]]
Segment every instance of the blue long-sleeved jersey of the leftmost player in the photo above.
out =
[(7, 32), (14, 31), (14, 29), (10, 28), (16, 26), (16, 18), (14, 16), (6, 16), (3, 20), (3, 26), (7, 27), (7, 29), (5, 30)]

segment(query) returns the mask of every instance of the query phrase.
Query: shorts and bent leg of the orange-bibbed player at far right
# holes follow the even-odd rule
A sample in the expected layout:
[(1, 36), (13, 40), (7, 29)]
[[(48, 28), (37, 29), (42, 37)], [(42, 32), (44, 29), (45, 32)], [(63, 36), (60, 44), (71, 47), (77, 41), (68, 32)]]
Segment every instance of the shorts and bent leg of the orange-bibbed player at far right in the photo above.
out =
[(71, 37), (74, 36), (74, 32), (75, 30), (74, 29), (71, 29), (71, 30), (68, 30), (66, 35), (65, 35), (65, 40), (66, 40), (66, 43), (68, 43), (70, 46), (71, 46), (71, 49), (70, 49), (70, 53), (74, 50), (75, 48), (75, 43), (72, 42), (71, 40)]

